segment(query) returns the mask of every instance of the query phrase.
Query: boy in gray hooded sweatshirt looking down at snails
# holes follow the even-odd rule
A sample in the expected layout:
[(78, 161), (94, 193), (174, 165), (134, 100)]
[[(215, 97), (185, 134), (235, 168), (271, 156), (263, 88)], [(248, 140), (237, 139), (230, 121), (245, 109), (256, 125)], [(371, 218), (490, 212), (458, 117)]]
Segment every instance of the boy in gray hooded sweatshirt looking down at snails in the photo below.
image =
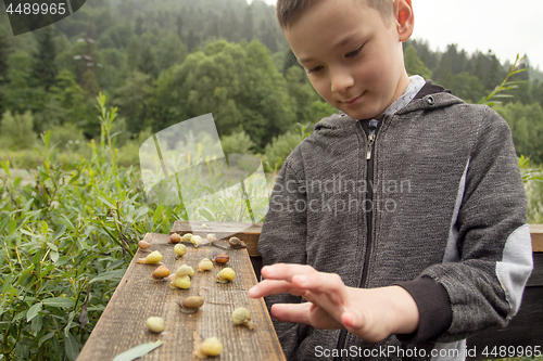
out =
[(267, 296), (288, 360), (464, 359), (467, 337), (517, 312), (532, 269), (506, 123), (408, 78), (411, 0), (276, 11), (340, 114), (281, 168), (258, 243), (274, 266), (250, 296)]

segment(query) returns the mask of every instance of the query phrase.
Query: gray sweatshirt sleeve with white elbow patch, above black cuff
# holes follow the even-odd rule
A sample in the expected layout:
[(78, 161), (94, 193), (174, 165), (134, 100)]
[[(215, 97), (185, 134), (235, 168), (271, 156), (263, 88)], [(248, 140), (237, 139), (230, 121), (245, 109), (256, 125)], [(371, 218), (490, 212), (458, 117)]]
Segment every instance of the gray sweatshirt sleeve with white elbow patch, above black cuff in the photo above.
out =
[(487, 107), (477, 139), (458, 193), (455, 244), (447, 245), (456, 248), (457, 257), (420, 274), (442, 285), (450, 298), (452, 321), (438, 341), (505, 327), (520, 307), (533, 268), (526, 195), (510, 130)]

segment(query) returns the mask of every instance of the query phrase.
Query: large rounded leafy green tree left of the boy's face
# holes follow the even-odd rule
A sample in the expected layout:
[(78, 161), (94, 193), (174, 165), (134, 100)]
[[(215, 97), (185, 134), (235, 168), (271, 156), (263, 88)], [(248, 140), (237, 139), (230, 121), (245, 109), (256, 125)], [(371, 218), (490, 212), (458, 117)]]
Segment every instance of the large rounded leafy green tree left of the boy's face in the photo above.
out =
[(219, 136), (244, 130), (256, 152), (286, 131), (294, 120), (291, 100), (266, 47), (213, 41), (161, 74), (149, 100), (154, 131), (206, 113)]

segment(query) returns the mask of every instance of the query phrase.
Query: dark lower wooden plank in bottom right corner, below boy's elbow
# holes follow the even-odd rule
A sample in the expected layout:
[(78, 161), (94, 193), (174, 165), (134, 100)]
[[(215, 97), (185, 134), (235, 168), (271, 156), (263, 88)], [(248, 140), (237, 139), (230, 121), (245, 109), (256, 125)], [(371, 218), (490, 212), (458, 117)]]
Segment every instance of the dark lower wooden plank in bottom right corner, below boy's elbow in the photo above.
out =
[(468, 339), (468, 349), (476, 347), (477, 356), (470, 360), (492, 358), (481, 352), (485, 347), (489, 351), (494, 346), (500, 347), (525, 347), (534, 346), (543, 348), (543, 287), (527, 287), (522, 298), (522, 305), (517, 315), (509, 322), (506, 328), (489, 328), (483, 333), (473, 335)]

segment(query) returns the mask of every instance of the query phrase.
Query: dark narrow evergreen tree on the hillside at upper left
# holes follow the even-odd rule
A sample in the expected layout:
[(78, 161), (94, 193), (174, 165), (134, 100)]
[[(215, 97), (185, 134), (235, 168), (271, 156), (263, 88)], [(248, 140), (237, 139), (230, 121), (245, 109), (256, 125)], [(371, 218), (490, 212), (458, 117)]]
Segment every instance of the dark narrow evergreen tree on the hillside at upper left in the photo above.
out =
[(30, 85), (49, 89), (54, 85), (56, 77), (56, 65), (54, 57), (56, 52), (53, 42), (53, 27), (46, 26), (38, 36), (38, 50), (34, 55)]

